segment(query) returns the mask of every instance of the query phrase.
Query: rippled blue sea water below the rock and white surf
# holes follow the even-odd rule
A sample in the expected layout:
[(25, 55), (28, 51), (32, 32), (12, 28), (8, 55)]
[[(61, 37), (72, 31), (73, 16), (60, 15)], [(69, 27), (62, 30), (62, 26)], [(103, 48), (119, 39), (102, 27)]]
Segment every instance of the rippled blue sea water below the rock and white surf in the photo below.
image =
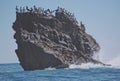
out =
[(120, 69), (101, 67), (24, 71), (19, 64), (0, 64), (0, 81), (120, 81)]

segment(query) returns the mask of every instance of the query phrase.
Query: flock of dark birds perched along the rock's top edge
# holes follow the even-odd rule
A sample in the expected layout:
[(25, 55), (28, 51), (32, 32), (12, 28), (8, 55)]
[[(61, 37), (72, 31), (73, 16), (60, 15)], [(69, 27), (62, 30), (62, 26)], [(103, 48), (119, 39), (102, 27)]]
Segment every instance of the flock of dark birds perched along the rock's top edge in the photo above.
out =
[(69, 11), (65, 10), (65, 8), (60, 8), (60, 7), (58, 7), (56, 10), (50, 10), (50, 9), (45, 10), (44, 8), (36, 7), (36, 6), (33, 6), (31, 8), (29, 8), (28, 6), (18, 8), (16, 6), (16, 13), (36, 13), (36, 14), (41, 14), (43, 16), (54, 16), (53, 13), (63, 13), (69, 20), (78, 24), (73, 13), (70, 13)]

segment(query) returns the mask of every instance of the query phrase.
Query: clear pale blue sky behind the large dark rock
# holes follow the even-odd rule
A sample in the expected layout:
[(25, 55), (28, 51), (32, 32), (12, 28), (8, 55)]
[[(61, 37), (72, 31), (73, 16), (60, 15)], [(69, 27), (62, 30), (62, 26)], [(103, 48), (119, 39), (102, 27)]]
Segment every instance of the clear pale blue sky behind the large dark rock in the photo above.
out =
[(0, 0), (0, 63), (19, 63), (12, 29), (16, 5), (53, 10), (63, 7), (74, 13), (78, 22), (85, 24), (86, 32), (100, 44), (100, 60), (120, 57), (120, 0)]

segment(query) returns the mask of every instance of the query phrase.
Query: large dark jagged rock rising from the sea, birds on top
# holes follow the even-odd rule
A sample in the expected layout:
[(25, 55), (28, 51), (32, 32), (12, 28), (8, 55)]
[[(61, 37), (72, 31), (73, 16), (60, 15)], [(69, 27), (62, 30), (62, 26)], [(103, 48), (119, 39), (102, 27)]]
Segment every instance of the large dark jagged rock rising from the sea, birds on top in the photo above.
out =
[(63, 8), (17, 9), (13, 29), (18, 46), (15, 52), (24, 70), (101, 63), (93, 58), (100, 50), (98, 43)]

